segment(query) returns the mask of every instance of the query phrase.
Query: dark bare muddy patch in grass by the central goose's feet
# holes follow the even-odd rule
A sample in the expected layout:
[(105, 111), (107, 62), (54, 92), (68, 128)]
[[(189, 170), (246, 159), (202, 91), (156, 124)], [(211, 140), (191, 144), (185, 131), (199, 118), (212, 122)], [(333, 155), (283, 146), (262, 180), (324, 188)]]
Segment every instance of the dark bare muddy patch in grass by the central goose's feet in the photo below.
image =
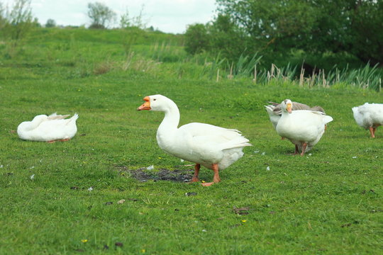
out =
[(188, 182), (194, 174), (194, 169), (128, 169), (126, 166), (116, 166), (121, 174), (131, 176), (138, 181), (180, 181)]

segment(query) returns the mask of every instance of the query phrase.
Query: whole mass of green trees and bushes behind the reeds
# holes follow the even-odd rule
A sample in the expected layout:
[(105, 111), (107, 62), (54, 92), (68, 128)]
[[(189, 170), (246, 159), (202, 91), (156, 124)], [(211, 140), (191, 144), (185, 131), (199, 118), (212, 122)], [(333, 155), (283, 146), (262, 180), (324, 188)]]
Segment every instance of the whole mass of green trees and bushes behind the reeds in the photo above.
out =
[(330, 69), (383, 64), (383, 1), (216, 0), (218, 15), (187, 29), (186, 50), (235, 61), (262, 55), (262, 62)]

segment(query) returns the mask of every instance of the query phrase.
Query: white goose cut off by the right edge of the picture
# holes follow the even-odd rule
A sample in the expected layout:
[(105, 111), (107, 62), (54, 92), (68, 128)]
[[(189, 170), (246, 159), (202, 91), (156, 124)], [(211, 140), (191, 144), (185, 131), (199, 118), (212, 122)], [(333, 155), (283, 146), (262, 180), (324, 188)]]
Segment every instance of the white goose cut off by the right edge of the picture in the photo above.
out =
[(371, 137), (375, 137), (375, 130), (383, 125), (383, 103), (365, 103), (353, 107), (354, 118), (357, 125), (370, 130)]

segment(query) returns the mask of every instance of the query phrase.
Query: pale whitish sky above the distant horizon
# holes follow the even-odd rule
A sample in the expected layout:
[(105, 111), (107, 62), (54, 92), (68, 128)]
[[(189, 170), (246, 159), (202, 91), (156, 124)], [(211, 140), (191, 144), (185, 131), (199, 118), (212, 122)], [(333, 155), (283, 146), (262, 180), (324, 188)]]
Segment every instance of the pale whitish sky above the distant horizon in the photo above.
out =
[[(42, 25), (48, 18), (63, 26), (89, 26), (87, 4), (99, 1), (117, 13), (126, 13), (130, 18), (139, 16), (143, 9), (143, 21), (165, 33), (184, 33), (187, 25), (207, 23), (214, 17), (215, 0), (31, 0), (33, 16)], [(13, 6), (15, 0), (0, 0), (4, 5)]]

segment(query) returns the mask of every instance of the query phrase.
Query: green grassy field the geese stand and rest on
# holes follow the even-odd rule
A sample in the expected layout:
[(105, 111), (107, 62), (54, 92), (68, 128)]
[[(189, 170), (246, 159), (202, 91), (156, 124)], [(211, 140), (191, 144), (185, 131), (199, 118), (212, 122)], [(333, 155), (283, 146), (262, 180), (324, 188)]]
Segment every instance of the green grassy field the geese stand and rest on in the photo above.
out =
[[(180, 71), (199, 67), (175, 61), (184, 53), (171, 36), (159, 61), (163, 38), (127, 45), (116, 31), (44, 31), (21, 52), (0, 45), (0, 254), (381, 254), (383, 128), (371, 139), (351, 111), (382, 103), (381, 93), (197, 79)], [(235, 128), (253, 146), (211, 187), (134, 179), (151, 165), (152, 176), (193, 169), (157, 147), (162, 113), (135, 110), (152, 94), (177, 103), (180, 125)], [(285, 98), (334, 118), (305, 157), (287, 155), (294, 146), (263, 107)], [(79, 114), (74, 139), (14, 132), (54, 112)]]

